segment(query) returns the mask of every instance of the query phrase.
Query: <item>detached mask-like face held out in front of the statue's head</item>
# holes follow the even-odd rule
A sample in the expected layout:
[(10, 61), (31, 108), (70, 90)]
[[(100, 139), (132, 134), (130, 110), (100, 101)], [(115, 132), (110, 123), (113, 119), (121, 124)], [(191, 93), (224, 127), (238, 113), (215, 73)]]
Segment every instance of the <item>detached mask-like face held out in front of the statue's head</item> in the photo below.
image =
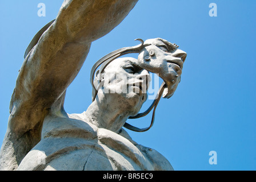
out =
[(159, 74), (167, 85), (163, 97), (170, 98), (181, 79), (187, 54), (178, 49), (177, 45), (160, 38), (146, 40), (145, 44), (151, 45), (139, 53), (138, 64), (150, 72)]

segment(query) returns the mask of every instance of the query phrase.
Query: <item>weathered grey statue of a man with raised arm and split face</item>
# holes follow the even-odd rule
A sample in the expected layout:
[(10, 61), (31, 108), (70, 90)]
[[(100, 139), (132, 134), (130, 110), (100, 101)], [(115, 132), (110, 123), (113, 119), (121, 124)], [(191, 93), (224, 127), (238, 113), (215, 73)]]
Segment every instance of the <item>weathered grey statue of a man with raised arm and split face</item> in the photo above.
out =
[[(123, 127), (149, 129), (126, 123), (147, 114), (138, 113), (147, 99), (149, 72), (164, 81), (149, 110), (162, 94), (169, 98), (175, 92), (186, 59), (176, 44), (140, 40), (139, 46), (110, 53), (91, 72), (93, 102), (88, 109), (67, 114), (63, 108), (66, 89), (91, 43), (121, 23), (137, 1), (65, 0), (57, 18), (38, 32), (11, 98), (1, 170), (173, 170), (165, 157), (134, 142)], [(138, 59), (119, 58), (131, 52), (139, 53)], [(128, 91), (117, 92), (124, 88)]]

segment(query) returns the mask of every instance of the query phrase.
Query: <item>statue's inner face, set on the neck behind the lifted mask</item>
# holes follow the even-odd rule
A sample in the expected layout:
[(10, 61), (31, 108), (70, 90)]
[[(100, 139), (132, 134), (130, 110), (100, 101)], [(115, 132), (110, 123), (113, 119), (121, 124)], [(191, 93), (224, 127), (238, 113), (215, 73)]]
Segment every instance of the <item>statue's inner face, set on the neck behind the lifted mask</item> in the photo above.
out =
[(101, 77), (103, 86), (98, 95), (103, 94), (107, 100), (117, 102), (119, 109), (136, 115), (147, 99), (146, 92), (151, 81), (149, 72), (138, 66), (138, 60), (132, 57), (114, 60), (107, 65)]

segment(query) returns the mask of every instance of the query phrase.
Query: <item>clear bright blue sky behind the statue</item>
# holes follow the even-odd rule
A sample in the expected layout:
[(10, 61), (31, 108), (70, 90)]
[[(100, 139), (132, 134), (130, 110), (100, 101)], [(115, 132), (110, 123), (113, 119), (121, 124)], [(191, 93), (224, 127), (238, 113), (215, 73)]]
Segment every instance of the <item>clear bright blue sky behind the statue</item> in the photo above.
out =
[[(45, 17), (37, 15), (41, 2)], [(62, 2), (0, 2), (1, 142), (26, 47), (55, 18)], [(217, 4), (217, 17), (209, 16), (212, 2)], [(255, 9), (254, 0), (139, 0), (118, 27), (93, 43), (67, 90), (66, 111), (82, 113), (90, 105), (89, 76), (95, 61), (115, 49), (137, 45), (136, 38), (161, 37), (187, 52), (182, 81), (173, 97), (160, 101), (153, 128), (146, 133), (129, 131), (131, 137), (161, 152), (175, 170), (256, 170)], [(146, 127), (150, 118), (130, 123)], [(209, 164), (210, 151), (217, 152), (217, 165)]]

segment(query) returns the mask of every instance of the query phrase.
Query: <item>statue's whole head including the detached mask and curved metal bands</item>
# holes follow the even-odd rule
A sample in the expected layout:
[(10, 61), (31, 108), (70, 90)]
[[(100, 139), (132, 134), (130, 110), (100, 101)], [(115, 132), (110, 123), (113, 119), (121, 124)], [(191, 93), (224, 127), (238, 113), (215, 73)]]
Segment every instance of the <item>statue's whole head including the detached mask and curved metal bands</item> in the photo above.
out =
[[(97, 102), (105, 106), (116, 102), (116, 109), (127, 112), (131, 116), (130, 119), (143, 117), (154, 108), (151, 127), (154, 122), (155, 107), (157, 107), (161, 96), (163, 95), (164, 98), (173, 96), (181, 81), (183, 63), (187, 54), (178, 49), (176, 44), (161, 38), (148, 39), (145, 42), (141, 39), (138, 40), (142, 43), (141, 45), (113, 51), (94, 64), (91, 71), (93, 101), (97, 96)], [(138, 59), (117, 59), (117, 57), (128, 53), (139, 53)], [(93, 79), (99, 65), (101, 68)], [(157, 73), (164, 82), (149, 109), (144, 113), (137, 114), (147, 98), (146, 90), (150, 82), (149, 72)], [(127, 123), (125, 127), (139, 132), (150, 129), (150, 127), (138, 129)]]

